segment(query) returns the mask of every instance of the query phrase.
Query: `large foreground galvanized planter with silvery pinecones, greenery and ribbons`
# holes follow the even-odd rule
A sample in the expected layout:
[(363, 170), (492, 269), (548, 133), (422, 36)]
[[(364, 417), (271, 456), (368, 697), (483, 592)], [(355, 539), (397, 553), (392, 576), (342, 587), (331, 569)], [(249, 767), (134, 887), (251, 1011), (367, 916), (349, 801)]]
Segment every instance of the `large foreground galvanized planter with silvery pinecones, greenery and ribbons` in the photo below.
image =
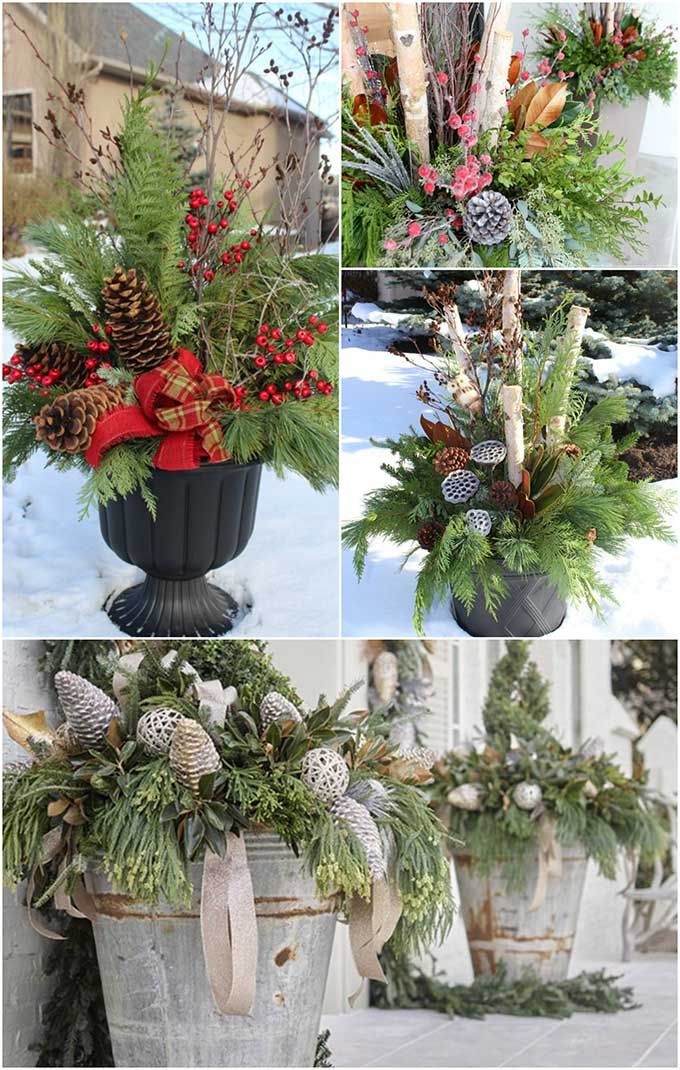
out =
[(56, 733), (6, 718), (33, 761), (6, 775), (5, 876), (29, 877), (33, 919), (53, 899), (92, 920), (119, 1066), (311, 1066), (337, 916), (373, 979), (387, 939), (451, 922), (422, 758), (345, 715), (351, 692), (303, 712), (261, 649), (227, 645), (203, 667), (238, 692), (189, 644), (144, 643), (96, 660), (104, 689), (56, 673)]

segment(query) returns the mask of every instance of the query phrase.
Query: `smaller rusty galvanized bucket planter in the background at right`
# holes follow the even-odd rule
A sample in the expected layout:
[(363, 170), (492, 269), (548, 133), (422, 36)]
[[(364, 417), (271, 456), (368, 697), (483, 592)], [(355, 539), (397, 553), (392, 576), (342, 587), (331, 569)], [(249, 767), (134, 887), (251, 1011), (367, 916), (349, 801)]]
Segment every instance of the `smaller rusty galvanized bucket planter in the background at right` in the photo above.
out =
[(543, 904), (529, 912), (538, 878), (538, 854), (523, 891), (510, 893), (498, 861), (480, 876), (465, 852), (455, 852), (455, 873), (475, 977), (493, 974), (503, 960), (514, 980), (527, 966), (544, 981), (567, 977), (586, 878), (581, 844), (562, 847), (562, 875), (548, 877)]

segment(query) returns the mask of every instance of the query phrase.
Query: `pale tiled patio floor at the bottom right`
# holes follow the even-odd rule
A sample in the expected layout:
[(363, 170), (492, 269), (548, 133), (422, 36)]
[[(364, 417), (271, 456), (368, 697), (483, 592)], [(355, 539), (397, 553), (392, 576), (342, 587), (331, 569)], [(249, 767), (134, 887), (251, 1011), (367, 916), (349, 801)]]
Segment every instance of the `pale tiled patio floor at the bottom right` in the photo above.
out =
[[(603, 964), (577, 963), (574, 972)], [(640, 958), (609, 973), (643, 1006), (620, 1014), (575, 1014), (562, 1022), (492, 1015), (450, 1020), (426, 1010), (328, 1014), (336, 1067), (675, 1067), (676, 966), (670, 956)]]

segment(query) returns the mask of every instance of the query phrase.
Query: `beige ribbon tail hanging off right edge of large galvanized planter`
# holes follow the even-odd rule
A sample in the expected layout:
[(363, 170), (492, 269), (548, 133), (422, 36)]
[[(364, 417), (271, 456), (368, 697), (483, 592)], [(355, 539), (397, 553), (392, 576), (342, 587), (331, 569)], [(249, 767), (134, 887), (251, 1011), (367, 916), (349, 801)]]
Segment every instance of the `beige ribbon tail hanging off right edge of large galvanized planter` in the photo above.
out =
[(350, 947), (361, 983), (350, 996), (354, 1007), (365, 980), (385, 982), (378, 954), (390, 938), (401, 917), (401, 899), (386, 881), (373, 884), (370, 900), (354, 896), (350, 903)]

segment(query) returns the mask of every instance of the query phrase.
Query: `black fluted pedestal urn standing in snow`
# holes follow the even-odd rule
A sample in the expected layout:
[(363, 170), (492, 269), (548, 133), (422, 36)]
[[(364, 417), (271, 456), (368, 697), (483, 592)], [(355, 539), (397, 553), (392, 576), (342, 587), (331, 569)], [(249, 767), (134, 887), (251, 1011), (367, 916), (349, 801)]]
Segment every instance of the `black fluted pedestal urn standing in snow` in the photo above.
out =
[(146, 577), (106, 607), (128, 636), (220, 636), (238, 606), (205, 574), (233, 561), (254, 525), (262, 465), (257, 461), (202, 464), (166, 472), (156, 469), (150, 489), (152, 517), (139, 491), (99, 506), (104, 540)]

